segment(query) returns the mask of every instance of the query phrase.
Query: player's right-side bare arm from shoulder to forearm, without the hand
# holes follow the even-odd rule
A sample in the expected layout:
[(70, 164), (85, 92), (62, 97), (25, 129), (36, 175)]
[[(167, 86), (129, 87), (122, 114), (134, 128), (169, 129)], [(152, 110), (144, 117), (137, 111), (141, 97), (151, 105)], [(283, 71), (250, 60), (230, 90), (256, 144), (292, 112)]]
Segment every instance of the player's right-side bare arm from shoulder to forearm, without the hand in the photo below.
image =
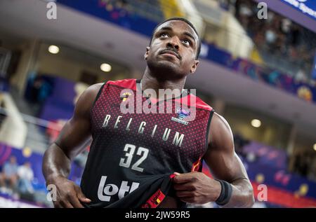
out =
[(251, 207), (254, 204), (253, 189), (246, 169), (235, 153), (230, 126), (217, 113), (213, 114), (209, 130), (209, 148), (204, 160), (216, 179), (232, 184), (232, 197), (224, 207)]

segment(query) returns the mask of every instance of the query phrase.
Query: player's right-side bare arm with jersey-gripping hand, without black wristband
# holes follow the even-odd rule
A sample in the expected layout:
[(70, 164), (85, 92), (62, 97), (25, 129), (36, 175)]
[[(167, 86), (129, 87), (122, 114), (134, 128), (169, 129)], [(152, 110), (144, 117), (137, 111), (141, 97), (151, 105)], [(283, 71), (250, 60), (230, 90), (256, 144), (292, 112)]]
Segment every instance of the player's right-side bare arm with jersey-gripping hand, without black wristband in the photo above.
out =
[[(244, 165), (235, 153), (230, 126), (217, 113), (213, 114), (211, 121), (209, 147), (204, 154), (204, 160), (216, 179), (232, 185), (230, 201), (223, 207), (251, 207), (254, 204), (252, 186)], [(205, 204), (215, 202), (220, 196), (220, 182), (202, 172), (175, 174), (177, 176), (173, 179), (173, 187), (183, 202)]]

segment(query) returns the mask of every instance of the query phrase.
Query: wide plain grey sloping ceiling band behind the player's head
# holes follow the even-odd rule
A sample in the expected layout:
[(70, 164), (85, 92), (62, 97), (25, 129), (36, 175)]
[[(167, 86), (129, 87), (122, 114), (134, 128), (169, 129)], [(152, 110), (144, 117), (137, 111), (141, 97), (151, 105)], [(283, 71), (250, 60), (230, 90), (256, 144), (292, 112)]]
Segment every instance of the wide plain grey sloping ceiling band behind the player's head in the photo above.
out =
[[(46, 11), (45, 1), (1, 0), (0, 28), (23, 38), (46, 39), (109, 57), (140, 72), (145, 69), (143, 54), (149, 42), (146, 36), (64, 6), (58, 6), (57, 20), (48, 20)], [(187, 83), (230, 103), (287, 120), (315, 137), (316, 104), (206, 60), (201, 61)]]

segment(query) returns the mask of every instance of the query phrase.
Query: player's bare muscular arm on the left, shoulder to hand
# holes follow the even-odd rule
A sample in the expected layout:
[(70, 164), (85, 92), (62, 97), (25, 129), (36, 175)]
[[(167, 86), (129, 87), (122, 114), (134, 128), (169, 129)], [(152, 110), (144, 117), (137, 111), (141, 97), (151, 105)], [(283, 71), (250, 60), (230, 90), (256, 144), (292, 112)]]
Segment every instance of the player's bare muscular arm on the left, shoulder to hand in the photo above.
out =
[[(83, 151), (85, 148), (84, 145), (91, 139), (89, 112), (101, 86), (102, 83), (91, 85), (82, 93), (74, 108), (72, 118), (68, 120), (62, 128), (55, 143), (53, 143), (44, 153), (43, 174), (47, 185), (55, 184), (56, 186), (59, 186), (64, 182), (66, 188), (70, 187), (70, 181), (67, 181), (66, 179), (70, 173), (71, 161), (76, 155)], [(81, 190), (78, 190), (79, 187), (72, 188), (75, 190), (68, 191), (79, 193), (79, 197), (82, 197), (81, 200), (84, 200)], [(60, 192), (62, 192), (62, 188), (60, 188)], [(58, 202), (58, 207), (80, 207), (80, 204), (76, 200), (72, 200), (74, 203)]]

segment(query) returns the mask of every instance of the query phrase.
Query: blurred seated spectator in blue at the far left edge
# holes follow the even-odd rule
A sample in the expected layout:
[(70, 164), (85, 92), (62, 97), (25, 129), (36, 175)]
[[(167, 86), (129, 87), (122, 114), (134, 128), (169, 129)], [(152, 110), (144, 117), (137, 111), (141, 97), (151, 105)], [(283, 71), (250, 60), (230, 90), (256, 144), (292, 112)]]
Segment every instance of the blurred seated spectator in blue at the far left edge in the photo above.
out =
[[(4, 168), (0, 173), (0, 187), (2, 191), (12, 193), (15, 190), (18, 181), (18, 165), (15, 156), (11, 156), (9, 162), (4, 164)], [(10, 190), (6, 190), (10, 188)]]

